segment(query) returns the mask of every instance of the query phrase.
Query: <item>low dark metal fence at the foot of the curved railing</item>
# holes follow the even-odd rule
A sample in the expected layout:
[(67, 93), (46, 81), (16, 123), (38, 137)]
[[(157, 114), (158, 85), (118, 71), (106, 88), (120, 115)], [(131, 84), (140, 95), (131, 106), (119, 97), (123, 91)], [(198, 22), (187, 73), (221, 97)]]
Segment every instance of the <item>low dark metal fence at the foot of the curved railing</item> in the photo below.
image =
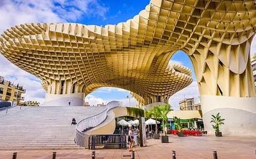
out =
[(111, 135), (91, 135), (90, 148), (95, 149), (109, 149), (109, 148), (123, 148), (126, 149), (126, 135), (111, 134)]

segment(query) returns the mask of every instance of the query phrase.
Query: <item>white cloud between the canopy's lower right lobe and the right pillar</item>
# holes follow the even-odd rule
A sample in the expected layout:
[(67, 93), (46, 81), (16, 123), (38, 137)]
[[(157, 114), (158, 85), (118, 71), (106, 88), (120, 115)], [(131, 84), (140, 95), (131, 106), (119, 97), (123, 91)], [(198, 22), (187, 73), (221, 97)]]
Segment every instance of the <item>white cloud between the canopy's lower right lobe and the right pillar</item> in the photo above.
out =
[(199, 90), (198, 84), (196, 81), (193, 81), (188, 87), (183, 88), (179, 92), (175, 93), (173, 96), (169, 98), (169, 104), (172, 106), (174, 110), (179, 110), (179, 101), (183, 100), (183, 98), (198, 98)]

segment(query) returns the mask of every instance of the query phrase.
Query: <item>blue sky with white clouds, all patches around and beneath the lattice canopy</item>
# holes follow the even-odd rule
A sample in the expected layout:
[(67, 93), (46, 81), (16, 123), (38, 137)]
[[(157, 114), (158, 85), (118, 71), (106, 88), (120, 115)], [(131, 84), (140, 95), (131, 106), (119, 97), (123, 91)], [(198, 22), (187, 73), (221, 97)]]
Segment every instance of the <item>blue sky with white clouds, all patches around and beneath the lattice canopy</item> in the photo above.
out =
[[(0, 0), (0, 32), (14, 25), (31, 22), (74, 22), (85, 25), (118, 24), (137, 15), (149, 4), (149, 0)], [(256, 40), (255, 40), (256, 41)], [(256, 45), (252, 48), (256, 50)], [(188, 56), (182, 51), (174, 54), (173, 62), (178, 62), (193, 70)], [(19, 69), (0, 54), (0, 75), (19, 83), (27, 89), (25, 100), (43, 103), (45, 92), (40, 80)], [(194, 77), (194, 76), (193, 76)], [(195, 78), (194, 78), (195, 80)], [(128, 91), (104, 87), (86, 97), (91, 105), (121, 100), (128, 105)], [(178, 101), (183, 97), (198, 97), (196, 82), (173, 95), (169, 103), (178, 109)], [(131, 100), (135, 105), (135, 100)]]

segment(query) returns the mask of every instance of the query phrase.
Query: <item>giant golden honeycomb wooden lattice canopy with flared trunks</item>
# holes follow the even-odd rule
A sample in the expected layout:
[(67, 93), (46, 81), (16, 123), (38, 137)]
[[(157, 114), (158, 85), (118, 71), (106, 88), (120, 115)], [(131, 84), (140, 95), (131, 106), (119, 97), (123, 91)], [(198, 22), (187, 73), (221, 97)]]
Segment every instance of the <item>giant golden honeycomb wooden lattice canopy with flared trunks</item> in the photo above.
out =
[(111, 86), (152, 103), (191, 83), (188, 68), (168, 64), (181, 49), (201, 95), (254, 97), (249, 52), (255, 32), (255, 1), (155, 0), (117, 25), (17, 25), (2, 34), (0, 50), (42, 79), (49, 93), (60, 93), (61, 85), (62, 93), (86, 95)]

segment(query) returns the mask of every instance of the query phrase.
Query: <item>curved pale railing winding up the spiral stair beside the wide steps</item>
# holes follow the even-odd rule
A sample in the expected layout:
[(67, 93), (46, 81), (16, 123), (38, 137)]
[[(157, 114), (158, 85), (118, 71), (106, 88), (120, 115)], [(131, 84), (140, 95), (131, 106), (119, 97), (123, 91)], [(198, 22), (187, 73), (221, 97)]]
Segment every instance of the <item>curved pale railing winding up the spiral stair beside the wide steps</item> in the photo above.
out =
[(90, 148), (90, 135), (86, 133), (89, 129), (98, 126), (107, 118), (107, 112), (112, 108), (122, 106), (120, 101), (111, 101), (101, 113), (82, 119), (76, 124), (75, 142), (80, 147)]

